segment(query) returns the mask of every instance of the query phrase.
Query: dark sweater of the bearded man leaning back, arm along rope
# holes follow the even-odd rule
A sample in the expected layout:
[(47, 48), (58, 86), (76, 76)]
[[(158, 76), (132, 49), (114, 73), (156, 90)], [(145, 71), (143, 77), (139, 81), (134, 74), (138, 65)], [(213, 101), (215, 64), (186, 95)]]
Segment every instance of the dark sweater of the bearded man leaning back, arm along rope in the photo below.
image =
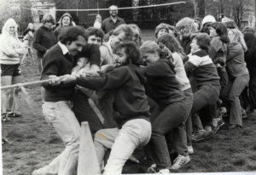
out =
[(119, 127), (131, 119), (149, 121), (149, 106), (137, 65), (126, 65), (99, 77), (79, 77), (77, 84), (93, 90), (108, 90), (113, 93), (113, 109), (119, 112), (114, 120)]

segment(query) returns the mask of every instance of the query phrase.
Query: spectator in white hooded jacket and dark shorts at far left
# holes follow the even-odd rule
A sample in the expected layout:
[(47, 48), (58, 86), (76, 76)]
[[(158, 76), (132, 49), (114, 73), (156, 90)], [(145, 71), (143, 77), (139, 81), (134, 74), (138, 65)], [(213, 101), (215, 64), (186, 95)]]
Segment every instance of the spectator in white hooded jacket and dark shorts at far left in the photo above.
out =
[[(7, 20), (0, 35), (1, 85), (8, 86), (21, 81), (20, 57), (25, 54), (25, 47), (18, 38), (18, 25), (14, 19)], [(1, 97), (2, 121), (15, 113), (15, 89), (3, 90)], [(9, 112), (9, 114), (8, 114)]]

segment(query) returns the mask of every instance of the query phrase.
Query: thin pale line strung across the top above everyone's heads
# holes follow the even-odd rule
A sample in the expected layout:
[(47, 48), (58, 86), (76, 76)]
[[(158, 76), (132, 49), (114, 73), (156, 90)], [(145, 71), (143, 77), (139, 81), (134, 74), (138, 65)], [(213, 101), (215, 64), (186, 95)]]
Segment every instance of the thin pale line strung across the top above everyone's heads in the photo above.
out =
[[(143, 5), (143, 6), (134, 6), (134, 7), (125, 7), (125, 8), (119, 8), (120, 9), (135, 9), (135, 8), (155, 8), (155, 7), (163, 7), (163, 6), (169, 6), (169, 5), (176, 5), (179, 3), (186, 3), (185, 1), (180, 1), (176, 3), (160, 3), (160, 4), (152, 4), (152, 5)], [(49, 9), (46, 8), (25, 8), (25, 9), (32, 9), (32, 10), (40, 10), (40, 11), (48, 11)], [(79, 9), (79, 8), (72, 8), (72, 9), (51, 9), (55, 11), (107, 11), (109, 8), (91, 8), (91, 9)]]

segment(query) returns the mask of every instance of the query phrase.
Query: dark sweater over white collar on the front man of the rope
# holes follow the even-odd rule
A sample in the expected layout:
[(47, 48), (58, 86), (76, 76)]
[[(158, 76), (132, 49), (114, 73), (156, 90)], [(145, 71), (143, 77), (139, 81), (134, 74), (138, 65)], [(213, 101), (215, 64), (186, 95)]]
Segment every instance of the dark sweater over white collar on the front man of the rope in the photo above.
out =
[[(50, 75), (63, 76), (71, 74), (73, 66), (76, 64), (75, 59), (70, 54), (63, 55), (59, 44), (55, 44), (49, 51), (44, 54), (42, 80), (48, 79)], [(45, 88), (44, 100), (57, 102), (61, 100), (72, 100), (75, 93), (75, 83), (60, 84), (51, 86), (44, 83)]]

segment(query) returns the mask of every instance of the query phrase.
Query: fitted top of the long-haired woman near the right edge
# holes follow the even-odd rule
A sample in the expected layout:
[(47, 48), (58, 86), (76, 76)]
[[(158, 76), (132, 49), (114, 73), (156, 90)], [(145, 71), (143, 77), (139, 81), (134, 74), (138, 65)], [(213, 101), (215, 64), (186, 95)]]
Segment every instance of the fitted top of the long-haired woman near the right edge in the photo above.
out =
[(227, 57), (227, 72), (231, 77), (244, 76), (248, 74), (247, 64), (244, 60), (244, 51), (241, 44), (228, 44), (229, 54)]

